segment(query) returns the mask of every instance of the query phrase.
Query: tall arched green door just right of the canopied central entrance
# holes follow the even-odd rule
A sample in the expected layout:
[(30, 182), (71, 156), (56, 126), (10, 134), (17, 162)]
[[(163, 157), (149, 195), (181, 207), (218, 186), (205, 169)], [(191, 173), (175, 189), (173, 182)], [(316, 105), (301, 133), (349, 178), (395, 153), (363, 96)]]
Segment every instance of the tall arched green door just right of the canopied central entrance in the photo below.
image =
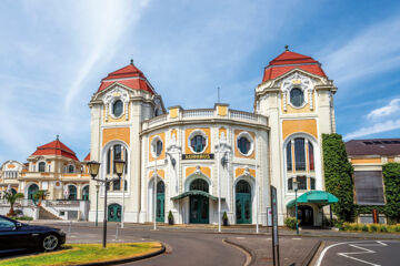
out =
[(247, 181), (236, 185), (237, 224), (251, 224), (251, 186)]

